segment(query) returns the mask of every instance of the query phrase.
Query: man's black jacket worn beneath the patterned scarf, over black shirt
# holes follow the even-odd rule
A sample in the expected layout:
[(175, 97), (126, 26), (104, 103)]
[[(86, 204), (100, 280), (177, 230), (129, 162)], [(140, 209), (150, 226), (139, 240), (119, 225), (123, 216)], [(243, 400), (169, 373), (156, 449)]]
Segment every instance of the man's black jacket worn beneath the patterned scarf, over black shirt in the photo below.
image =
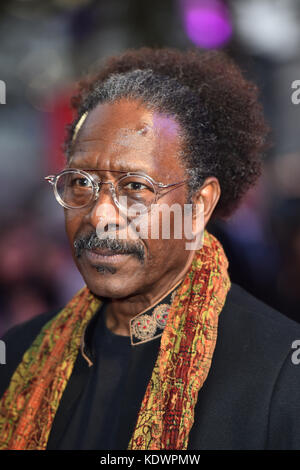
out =
[[(25, 350), (56, 313), (40, 315), (6, 333), (7, 364), (0, 365), (0, 396)], [(93, 320), (85, 336), (85, 353), (91, 359)], [(300, 364), (292, 361), (292, 355), (297, 359), (295, 340), (300, 340), (300, 325), (232, 283), (219, 318), (212, 366), (199, 392), (188, 449), (300, 449)], [(118, 449), (127, 448), (151, 376), (159, 341), (155, 347), (151, 343), (134, 349), (123, 393)], [(89, 370), (79, 353), (48, 449), (59, 448)]]

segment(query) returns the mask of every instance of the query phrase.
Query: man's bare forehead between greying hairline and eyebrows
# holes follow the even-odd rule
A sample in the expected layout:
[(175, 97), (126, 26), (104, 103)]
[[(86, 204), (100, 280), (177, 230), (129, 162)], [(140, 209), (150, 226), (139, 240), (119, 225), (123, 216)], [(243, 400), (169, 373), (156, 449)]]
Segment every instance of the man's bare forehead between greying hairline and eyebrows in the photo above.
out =
[(183, 175), (180, 126), (133, 100), (97, 105), (79, 129), (69, 166)]

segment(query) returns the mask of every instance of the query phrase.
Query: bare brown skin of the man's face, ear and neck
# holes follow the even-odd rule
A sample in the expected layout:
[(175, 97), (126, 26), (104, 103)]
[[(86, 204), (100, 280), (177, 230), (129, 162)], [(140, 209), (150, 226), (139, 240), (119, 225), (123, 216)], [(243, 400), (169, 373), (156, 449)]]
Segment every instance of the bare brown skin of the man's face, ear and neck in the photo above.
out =
[[(135, 100), (122, 99), (99, 104), (89, 112), (82, 124), (68, 163), (71, 168), (105, 169), (101, 174), (113, 180), (121, 174), (109, 170), (141, 171), (164, 184), (186, 179), (179, 153), (182, 149), (180, 127), (176, 120), (145, 107)], [(95, 172), (97, 175), (97, 172)], [(214, 177), (207, 178), (194, 195), (195, 203), (202, 199), (206, 226), (220, 197), (220, 186)], [(158, 203), (183, 206), (187, 201), (187, 186), (169, 191)], [(129, 335), (129, 320), (164, 297), (188, 271), (193, 251), (186, 250), (186, 239), (140, 238), (145, 259), (142, 263), (133, 255), (119, 255), (113, 265), (115, 273), (100, 273), (83, 253), (74, 255), (73, 242), (78, 236), (95, 231), (101, 214), (106, 230), (125, 230), (127, 219), (114, 206), (114, 215), (102, 210), (103, 204), (113, 204), (109, 185), (101, 189), (97, 201), (82, 209), (66, 209), (65, 224), (75, 263), (87, 286), (99, 297), (110, 300), (106, 311), (107, 327), (115, 334)], [(149, 215), (151, 223), (151, 214)], [(171, 224), (172, 227), (172, 224)], [(172, 232), (171, 232), (172, 233)], [(84, 250), (86, 251), (86, 250)], [(101, 262), (102, 263), (102, 262)], [(102, 264), (109, 265), (109, 259)]]

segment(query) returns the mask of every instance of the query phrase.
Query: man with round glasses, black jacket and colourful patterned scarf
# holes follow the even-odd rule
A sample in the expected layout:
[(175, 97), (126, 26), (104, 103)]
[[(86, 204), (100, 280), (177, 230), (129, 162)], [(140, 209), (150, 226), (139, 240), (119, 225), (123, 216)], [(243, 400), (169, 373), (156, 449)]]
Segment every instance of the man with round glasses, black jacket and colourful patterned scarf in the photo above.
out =
[(168, 212), (189, 205), (197, 239), (199, 213), (229, 216), (255, 183), (256, 88), (223, 53), (141, 49), (73, 104), (48, 180), (86, 287), (4, 337), (0, 447), (298, 448), (299, 326), (230, 282), (207, 230), (187, 248)]

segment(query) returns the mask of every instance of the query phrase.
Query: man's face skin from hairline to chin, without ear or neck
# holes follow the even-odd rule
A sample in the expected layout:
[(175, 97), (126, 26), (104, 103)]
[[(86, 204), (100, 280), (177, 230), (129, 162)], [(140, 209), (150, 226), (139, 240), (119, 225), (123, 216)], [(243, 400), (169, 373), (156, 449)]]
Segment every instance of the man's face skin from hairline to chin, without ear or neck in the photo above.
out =
[[(181, 141), (179, 126), (172, 117), (150, 111), (134, 100), (99, 104), (89, 112), (80, 129), (68, 167), (78, 169), (105, 169), (90, 174), (104, 181), (116, 180), (122, 173), (113, 170), (143, 172), (157, 182), (170, 184), (186, 179), (180, 165)], [(166, 190), (165, 190), (166, 192)], [(158, 204), (186, 203), (187, 186), (182, 185), (160, 198)], [(107, 210), (111, 206), (113, 210)], [(153, 216), (152, 216), (153, 217)], [(151, 224), (151, 211), (147, 221)], [(102, 186), (99, 198), (82, 209), (65, 209), (67, 235), (73, 257), (87, 286), (101, 297), (121, 298), (145, 294), (158, 286), (163, 290), (180, 273), (190, 255), (186, 240), (131, 237), (128, 246), (139, 247), (129, 254), (104, 256), (101, 250), (83, 249), (76, 255), (74, 242), (95, 233), (99, 223), (103, 231), (114, 227), (118, 233), (128, 227), (128, 218), (114, 205), (109, 185)], [(106, 250), (107, 251), (107, 250)]]

